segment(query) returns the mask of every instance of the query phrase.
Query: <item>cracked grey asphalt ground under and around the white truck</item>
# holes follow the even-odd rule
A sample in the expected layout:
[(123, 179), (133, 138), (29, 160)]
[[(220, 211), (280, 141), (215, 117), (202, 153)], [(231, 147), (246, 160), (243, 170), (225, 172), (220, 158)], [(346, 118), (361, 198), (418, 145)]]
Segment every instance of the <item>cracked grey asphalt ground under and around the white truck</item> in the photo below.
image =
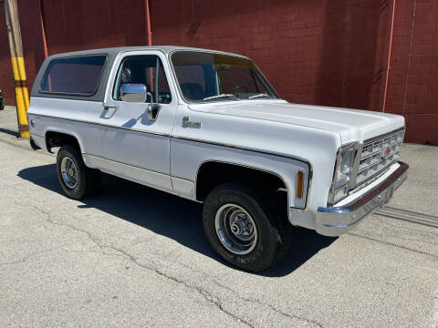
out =
[[(7, 118), (6, 116), (9, 115)], [(66, 198), (55, 155), (0, 112), (0, 327), (438, 328), (438, 148), (407, 145), (408, 180), (339, 238), (297, 229), (268, 272), (230, 267), (202, 206), (104, 175)]]

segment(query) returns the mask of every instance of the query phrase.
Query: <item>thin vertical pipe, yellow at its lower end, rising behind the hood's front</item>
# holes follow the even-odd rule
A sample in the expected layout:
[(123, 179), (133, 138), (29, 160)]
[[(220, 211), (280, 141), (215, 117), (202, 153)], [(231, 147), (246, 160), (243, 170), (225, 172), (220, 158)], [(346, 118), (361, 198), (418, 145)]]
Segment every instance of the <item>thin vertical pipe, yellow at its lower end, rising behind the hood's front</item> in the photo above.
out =
[(388, 80), (390, 77), (391, 69), (391, 51), (392, 51), (392, 36), (394, 34), (394, 17), (395, 17), (395, 1), (388, 0), (388, 34), (387, 44), (385, 47), (385, 55), (383, 57), (383, 67), (381, 76), (381, 100), (379, 103), (379, 109), (382, 113), (386, 109), (386, 95), (388, 92)]

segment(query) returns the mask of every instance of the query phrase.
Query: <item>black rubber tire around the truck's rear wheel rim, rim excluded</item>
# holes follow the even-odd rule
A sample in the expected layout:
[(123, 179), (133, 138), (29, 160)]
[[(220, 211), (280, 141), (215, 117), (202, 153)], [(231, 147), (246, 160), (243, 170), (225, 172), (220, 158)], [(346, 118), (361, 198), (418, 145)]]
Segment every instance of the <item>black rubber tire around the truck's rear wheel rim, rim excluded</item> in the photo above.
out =
[[(69, 187), (62, 176), (61, 163), (63, 159), (71, 159), (77, 170), (78, 179), (74, 186)], [(100, 171), (99, 169), (87, 168), (78, 149), (70, 145), (64, 145), (57, 152), (57, 179), (59, 180), (62, 190), (64, 190), (69, 198), (83, 200), (98, 192)]]

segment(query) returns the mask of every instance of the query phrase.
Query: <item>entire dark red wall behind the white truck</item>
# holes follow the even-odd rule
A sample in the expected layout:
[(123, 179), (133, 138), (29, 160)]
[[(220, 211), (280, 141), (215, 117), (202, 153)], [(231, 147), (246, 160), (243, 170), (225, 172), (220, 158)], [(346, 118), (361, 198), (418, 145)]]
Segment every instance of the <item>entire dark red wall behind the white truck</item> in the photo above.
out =
[[(381, 0), (151, 0), (152, 44), (252, 57), (291, 102), (379, 110), (388, 5)], [(48, 53), (146, 45), (145, 0), (20, 0), (29, 84)], [(126, 4), (130, 5), (126, 5)], [(415, 8), (415, 15), (413, 10)], [(407, 140), (438, 145), (438, 3), (398, 0), (386, 111)], [(4, 26), (3, 7), (0, 24)], [(7, 45), (0, 28), (0, 44)], [(0, 87), (14, 101), (7, 46)]]

